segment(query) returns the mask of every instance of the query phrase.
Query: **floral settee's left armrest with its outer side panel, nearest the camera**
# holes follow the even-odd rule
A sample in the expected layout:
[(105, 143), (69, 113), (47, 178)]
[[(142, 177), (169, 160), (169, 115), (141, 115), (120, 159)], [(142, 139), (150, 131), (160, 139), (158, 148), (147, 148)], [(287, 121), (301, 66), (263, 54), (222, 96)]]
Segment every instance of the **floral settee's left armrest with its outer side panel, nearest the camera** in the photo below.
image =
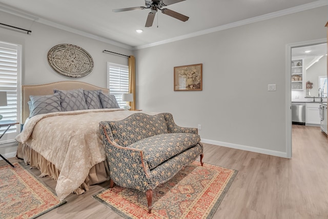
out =
[(144, 152), (116, 144), (106, 123), (99, 123), (99, 131), (107, 155), (110, 177), (113, 182), (118, 186), (145, 192), (155, 188), (156, 185), (152, 185), (150, 180), (151, 172), (145, 161)]

